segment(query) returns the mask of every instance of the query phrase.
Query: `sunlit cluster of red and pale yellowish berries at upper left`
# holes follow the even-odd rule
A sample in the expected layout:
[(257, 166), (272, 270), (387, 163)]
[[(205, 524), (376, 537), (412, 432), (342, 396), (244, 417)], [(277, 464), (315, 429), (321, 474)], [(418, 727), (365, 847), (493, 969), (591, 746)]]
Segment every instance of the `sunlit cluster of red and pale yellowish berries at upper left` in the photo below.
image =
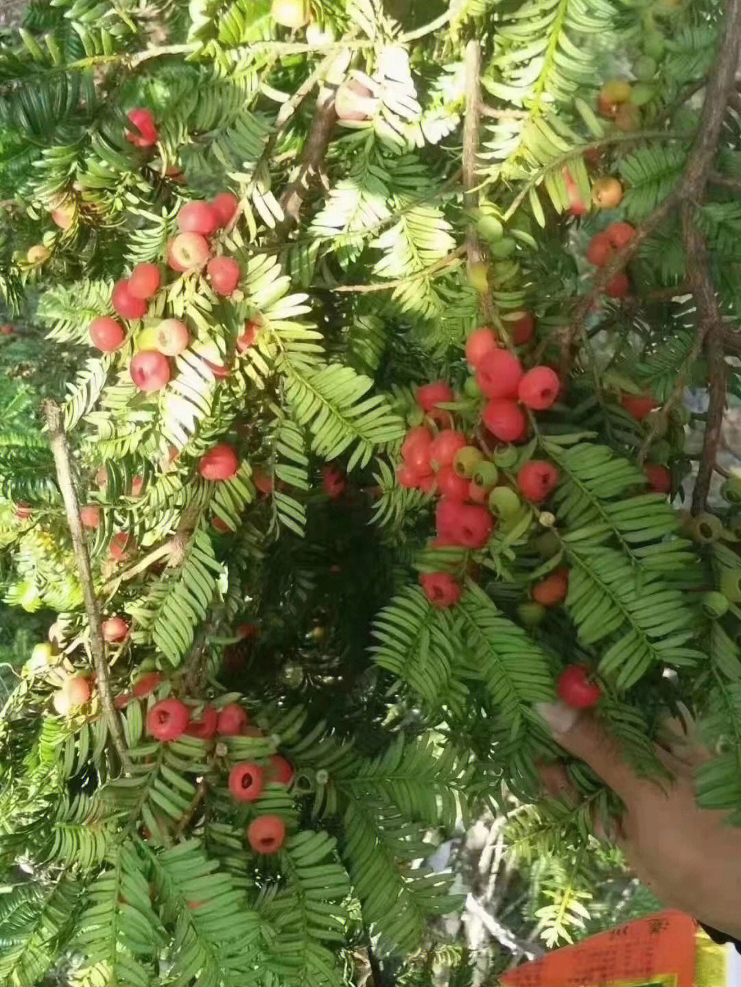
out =
[[(168, 243), (168, 265), (178, 272), (197, 272), (206, 266), (206, 276), (217, 295), (231, 295), (239, 284), (242, 269), (231, 257), (212, 257), (207, 237), (228, 226), (236, 215), (239, 200), (225, 191), (211, 202), (187, 202), (178, 213), (180, 233)], [(163, 274), (158, 265), (139, 264), (123, 280), (116, 281), (111, 294), (115, 314), (123, 321), (139, 321), (148, 311), (149, 302), (162, 287)], [(254, 321), (255, 322), (255, 321)], [(237, 342), (242, 352), (257, 338), (259, 323), (248, 324), (245, 335)], [(252, 342), (248, 341), (248, 337)], [(111, 353), (126, 341), (123, 325), (111, 316), (94, 319), (90, 339), (102, 352)], [(129, 373), (136, 387), (145, 394), (162, 390), (171, 377), (170, 357), (177, 356), (190, 342), (190, 333), (179, 319), (164, 319), (141, 330), (137, 352), (131, 358)], [(215, 376), (228, 375), (228, 368), (209, 363)]]

